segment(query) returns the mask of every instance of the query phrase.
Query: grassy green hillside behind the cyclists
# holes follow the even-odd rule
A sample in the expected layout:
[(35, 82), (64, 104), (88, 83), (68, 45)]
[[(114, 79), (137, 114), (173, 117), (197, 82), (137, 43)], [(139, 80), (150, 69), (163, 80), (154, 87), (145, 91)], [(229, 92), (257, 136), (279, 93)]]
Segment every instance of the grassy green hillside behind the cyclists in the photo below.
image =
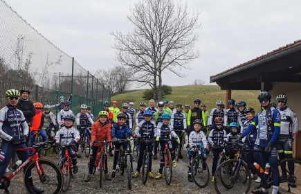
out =
[[(121, 107), (122, 103), (129, 103), (133, 101), (134, 107), (138, 107), (139, 103), (145, 102), (148, 105), (148, 100), (143, 99), (143, 92), (145, 89), (138, 91), (131, 91), (126, 94), (119, 94), (112, 96), (111, 100), (118, 101), (118, 107)], [(260, 91), (257, 90), (233, 90), (232, 98), (235, 101), (244, 100), (247, 107), (253, 107), (256, 112), (259, 111), (260, 105), (257, 100), (257, 95)], [(173, 100), (174, 103), (190, 104), (193, 106), (194, 98), (200, 98), (201, 103), (205, 103), (207, 110), (210, 111), (215, 106), (217, 100), (226, 101), (226, 90), (221, 90), (219, 86), (201, 85), (201, 86), (177, 86), (172, 87), (172, 94), (165, 96), (167, 100)]]

